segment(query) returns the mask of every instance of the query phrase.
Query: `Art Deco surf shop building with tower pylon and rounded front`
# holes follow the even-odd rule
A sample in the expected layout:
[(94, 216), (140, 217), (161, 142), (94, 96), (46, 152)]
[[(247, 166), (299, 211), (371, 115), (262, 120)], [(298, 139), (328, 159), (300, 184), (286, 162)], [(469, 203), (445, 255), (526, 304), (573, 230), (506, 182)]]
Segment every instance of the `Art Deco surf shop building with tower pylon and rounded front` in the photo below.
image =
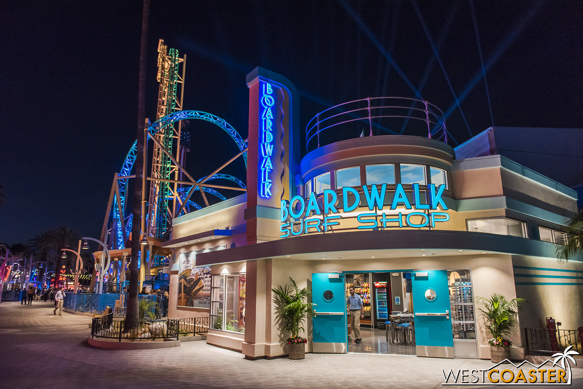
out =
[[(293, 84), (257, 68), (247, 85), (247, 193), (174, 219), (168, 317), (209, 317), (207, 342), (247, 359), (286, 355), (271, 289), (291, 277), (317, 304), (307, 352), (490, 358), (473, 301), (492, 293), (529, 300), (512, 358), (524, 356), (524, 328), (545, 317), (581, 325), (583, 267), (557, 263), (553, 243), (577, 211), (574, 190), (490, 152), (490, 130), (456, 150), (370, 136), (378, 107), (396, 105), (373, 98), (315, 116), (300, 160)], [(423, 124), (444, 125), (419, 103)], [(351, 121), (370, 133), (330, 142)], [(361, 344), (348, 334), (351, 285), (365, 305)], [(387, 342), (389, 319), (401, 326)]]

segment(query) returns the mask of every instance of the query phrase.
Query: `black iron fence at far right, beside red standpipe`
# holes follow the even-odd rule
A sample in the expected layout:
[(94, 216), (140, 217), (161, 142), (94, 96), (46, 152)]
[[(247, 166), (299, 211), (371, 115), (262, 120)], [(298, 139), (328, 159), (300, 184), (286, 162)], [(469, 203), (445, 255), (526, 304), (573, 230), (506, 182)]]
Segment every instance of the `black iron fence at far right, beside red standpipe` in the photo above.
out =
[(525, 328), (526, 345), (529, 351), (562, 352), (568, 346), (581, 353), (583, 328), (579, 330), (549, 330), (547, 328)]

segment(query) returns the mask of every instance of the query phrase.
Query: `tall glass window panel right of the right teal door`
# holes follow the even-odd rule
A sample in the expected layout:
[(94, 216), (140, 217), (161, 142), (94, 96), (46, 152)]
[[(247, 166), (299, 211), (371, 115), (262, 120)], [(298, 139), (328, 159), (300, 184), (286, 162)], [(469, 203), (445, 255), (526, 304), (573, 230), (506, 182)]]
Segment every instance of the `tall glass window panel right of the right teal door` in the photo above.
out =
[(454, 339), (476, 339), (476, 318), (470, 271), (448, 270), (447, 280)]

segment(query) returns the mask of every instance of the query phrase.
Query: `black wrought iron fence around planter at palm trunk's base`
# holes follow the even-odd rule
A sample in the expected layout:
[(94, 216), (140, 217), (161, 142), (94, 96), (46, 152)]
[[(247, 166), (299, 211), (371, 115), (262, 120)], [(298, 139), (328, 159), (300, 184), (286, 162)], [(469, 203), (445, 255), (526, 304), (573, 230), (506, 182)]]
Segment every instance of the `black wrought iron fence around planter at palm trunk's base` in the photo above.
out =
[(113, 313), (95, 317), (91, 326), (92, 338), (122, 340), (178, 340), (178, 319), (152, 321), (125, 321), (116, 319)]

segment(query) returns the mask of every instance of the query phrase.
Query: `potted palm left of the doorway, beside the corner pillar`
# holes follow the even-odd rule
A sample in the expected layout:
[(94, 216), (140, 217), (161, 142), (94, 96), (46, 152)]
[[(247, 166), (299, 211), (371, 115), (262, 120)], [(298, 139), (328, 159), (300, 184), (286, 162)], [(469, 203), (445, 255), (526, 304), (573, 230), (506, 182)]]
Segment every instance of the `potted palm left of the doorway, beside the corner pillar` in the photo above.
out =
[(278, 316), (283, 324), (283, 331), (289, 331), (291, 337), (287, 338), (287, 353), (289, 359), (305, 358), (306, 338), (300, 337), (300, 332), (304, 331), (303, 324), (308, 316), (315, 317), (313, 303), (308, 303), (308, 297), (312, 295), (309, 288), (300, 289), (296, 281), (290, 277), (290, 283), (282, 287), (271, 289), (273, 292), (273, 302), (275, 303)]

